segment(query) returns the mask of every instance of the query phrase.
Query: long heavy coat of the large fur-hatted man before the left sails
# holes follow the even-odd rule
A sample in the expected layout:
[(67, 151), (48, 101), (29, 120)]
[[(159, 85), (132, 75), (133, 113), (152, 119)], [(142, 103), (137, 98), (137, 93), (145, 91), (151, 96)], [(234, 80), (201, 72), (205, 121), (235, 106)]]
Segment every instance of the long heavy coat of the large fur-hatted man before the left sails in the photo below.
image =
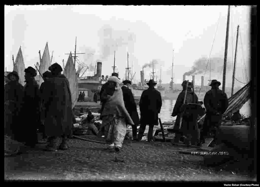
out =
[(73, 124), (72, 98), (69, 81), (64, 75), (46, 81), (44, 106), (47, 110), (45, 133), (47, 136), (70, 135)]

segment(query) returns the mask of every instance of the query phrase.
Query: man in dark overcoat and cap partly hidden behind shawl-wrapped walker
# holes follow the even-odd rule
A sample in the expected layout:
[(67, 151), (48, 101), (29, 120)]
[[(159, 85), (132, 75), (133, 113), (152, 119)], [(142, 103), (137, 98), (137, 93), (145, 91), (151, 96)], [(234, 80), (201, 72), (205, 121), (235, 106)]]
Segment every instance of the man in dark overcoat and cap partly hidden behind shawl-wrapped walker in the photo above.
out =
[(123, 99), (125, 103), (125, 107), (129, 115), (131, 116), (134, 125), (132, 125), (132, 131), (133, 131), (133, 140), (137, 140), (137, 126), (140, 124), (136, 103), (134, 101), (134, 96), (129, 88), (129, 86), (132, 84), (130, 80), (124, 80), (123, 81), (122, 91), (123, 91)]

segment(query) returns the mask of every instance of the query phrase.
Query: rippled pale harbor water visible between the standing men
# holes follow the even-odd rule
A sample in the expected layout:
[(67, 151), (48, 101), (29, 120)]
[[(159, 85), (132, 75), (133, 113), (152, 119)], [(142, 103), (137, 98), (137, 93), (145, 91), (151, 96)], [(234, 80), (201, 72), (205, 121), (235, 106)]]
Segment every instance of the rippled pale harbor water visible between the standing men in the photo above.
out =
[[(162, 100), (161, 112), (158, 115), (162, 123), (176, 119), (176, 116), (175, 117), (171, 116), (175, 102), (176, 100), (168, 100), (168, 99)], [(140, 117), (139, 104), (136, 104), (136, 106), (137, 106), (137, 112)], [(250, 100), (244, 104), (244, 106), (239, 110), (239, 112), (240, 114), (244, 114), (245, 116), (250, 116)]]

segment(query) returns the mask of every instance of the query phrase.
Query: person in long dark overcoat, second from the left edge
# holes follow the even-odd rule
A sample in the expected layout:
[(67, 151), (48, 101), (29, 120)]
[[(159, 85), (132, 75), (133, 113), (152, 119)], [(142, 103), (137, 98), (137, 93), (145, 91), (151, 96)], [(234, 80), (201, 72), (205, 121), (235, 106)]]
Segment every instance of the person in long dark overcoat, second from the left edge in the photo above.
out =
[(24, 123), (21, 128), (21, 141), (26, 145), (34, 147), (38, 142), (37, 129), (40, 128), (40, 91), (35, 80), (36, 70), (29, 66), (24, 70), (24, 105), (22, 109)]

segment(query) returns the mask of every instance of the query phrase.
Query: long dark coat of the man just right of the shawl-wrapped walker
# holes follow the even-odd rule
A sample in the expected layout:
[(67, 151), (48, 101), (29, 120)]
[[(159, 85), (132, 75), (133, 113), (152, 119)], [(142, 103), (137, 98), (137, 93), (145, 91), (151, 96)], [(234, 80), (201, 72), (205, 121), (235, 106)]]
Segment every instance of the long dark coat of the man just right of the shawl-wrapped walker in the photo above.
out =
[(126, 110), (129, 113), (129, 115), (131, 116), (134, 124), (139, 125), (140, 119), (138, 116), (136, 103), (134, 101), (134, 96), (132, 94), (132, 91), (127, 86), (122, 86), (121, 88), (122, 88), (122, 92), (123, 92), (123, 99), (124, 99)]

